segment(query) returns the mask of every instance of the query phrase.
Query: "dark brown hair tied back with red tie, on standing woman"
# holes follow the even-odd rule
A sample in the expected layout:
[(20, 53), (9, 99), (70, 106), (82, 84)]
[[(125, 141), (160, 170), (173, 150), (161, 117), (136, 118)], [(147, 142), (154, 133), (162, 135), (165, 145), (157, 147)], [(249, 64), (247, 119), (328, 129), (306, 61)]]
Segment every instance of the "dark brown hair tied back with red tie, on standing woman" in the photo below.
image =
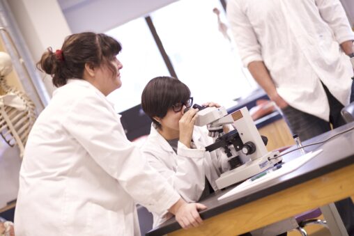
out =
[(53, 52), (49, 47), (38, 61), (37, 68), (50, 74), (56, 87), (65, 85), (68, 79), (83, 79), (86, 63), (95, 67), (107, 65), (115, 75), (116, 68), (109, 61), (121, 49), (117, 40), (104, 33), (75, 33), (66, 38), (59, 52)]

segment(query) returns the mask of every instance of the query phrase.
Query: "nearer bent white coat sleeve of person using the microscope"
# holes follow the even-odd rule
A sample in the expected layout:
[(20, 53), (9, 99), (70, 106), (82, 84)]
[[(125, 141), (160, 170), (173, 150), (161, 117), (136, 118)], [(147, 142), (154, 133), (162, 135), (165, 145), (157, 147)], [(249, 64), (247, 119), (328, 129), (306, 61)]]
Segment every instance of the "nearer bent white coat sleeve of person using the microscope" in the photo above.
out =
[[(203, 159), (205, 150), (190, 149), (178, 142), (176, 169), (169, 168), (162, 159), (167, 152), (155, 147), (143, 148), (148, 164), (155, 168), (187, 202), (199, 200), (205, 187)], [(174, 160), (171, 159), (171, 162)]]

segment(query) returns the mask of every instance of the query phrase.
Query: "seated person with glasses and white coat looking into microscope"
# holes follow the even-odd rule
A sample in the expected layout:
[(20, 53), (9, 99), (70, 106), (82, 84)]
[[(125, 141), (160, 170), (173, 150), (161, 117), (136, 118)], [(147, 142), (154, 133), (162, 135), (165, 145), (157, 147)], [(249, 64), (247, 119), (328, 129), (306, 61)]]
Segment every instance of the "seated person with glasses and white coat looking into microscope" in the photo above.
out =
[[(190, 89), (173, 77), (155, 77), (146, 84), (141, 107), (153, 123), (141, 150), (148, 164), (166, 178), (180, 196), (187, 202), (196, 202), (218, 191), (215, 180), (230, 167), (221, 149), (206, 152), (205, 147), (215, 140), (208, 136), (206, 127), (194, 126), (198, 109), (191, 108), (190, 95)], [(220, 107), (214, 102), (203, 105)], [(186, 108), (190, 108), (189, 111), (185, 112)], [(224, 132), (228, 131), (229, 127), (224, 127)], [(168, 216), (153, 213), (153, 227), (167, 219)], [(286, 219), (262, 230), (286, 235), (283, 229), (290, 222), (291, 219)], [(259, 234), (252, 232), (252, 235)]]

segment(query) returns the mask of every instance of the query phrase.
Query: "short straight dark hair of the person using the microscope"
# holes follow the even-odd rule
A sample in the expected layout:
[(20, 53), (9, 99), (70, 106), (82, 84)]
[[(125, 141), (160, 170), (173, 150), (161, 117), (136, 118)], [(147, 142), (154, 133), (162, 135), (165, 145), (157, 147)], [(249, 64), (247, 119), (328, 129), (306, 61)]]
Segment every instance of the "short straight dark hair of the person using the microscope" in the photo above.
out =
[(174, 104), (186, 102), (189, 98), (190, 88), (178, 79), (174, 77), (155, 77), (146, 84), (141, 94), (141, 107), (160, 129), (160, 123), (153, 117), (164, 118)]

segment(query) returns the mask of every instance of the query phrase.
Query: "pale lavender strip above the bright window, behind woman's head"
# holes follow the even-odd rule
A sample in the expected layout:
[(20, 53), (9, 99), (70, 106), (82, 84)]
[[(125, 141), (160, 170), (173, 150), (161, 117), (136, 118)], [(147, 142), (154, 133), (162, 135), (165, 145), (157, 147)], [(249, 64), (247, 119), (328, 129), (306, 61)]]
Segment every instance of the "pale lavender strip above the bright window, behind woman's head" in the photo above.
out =
[(72, 33), (105, 32), (176, 0), (58, 0)]

